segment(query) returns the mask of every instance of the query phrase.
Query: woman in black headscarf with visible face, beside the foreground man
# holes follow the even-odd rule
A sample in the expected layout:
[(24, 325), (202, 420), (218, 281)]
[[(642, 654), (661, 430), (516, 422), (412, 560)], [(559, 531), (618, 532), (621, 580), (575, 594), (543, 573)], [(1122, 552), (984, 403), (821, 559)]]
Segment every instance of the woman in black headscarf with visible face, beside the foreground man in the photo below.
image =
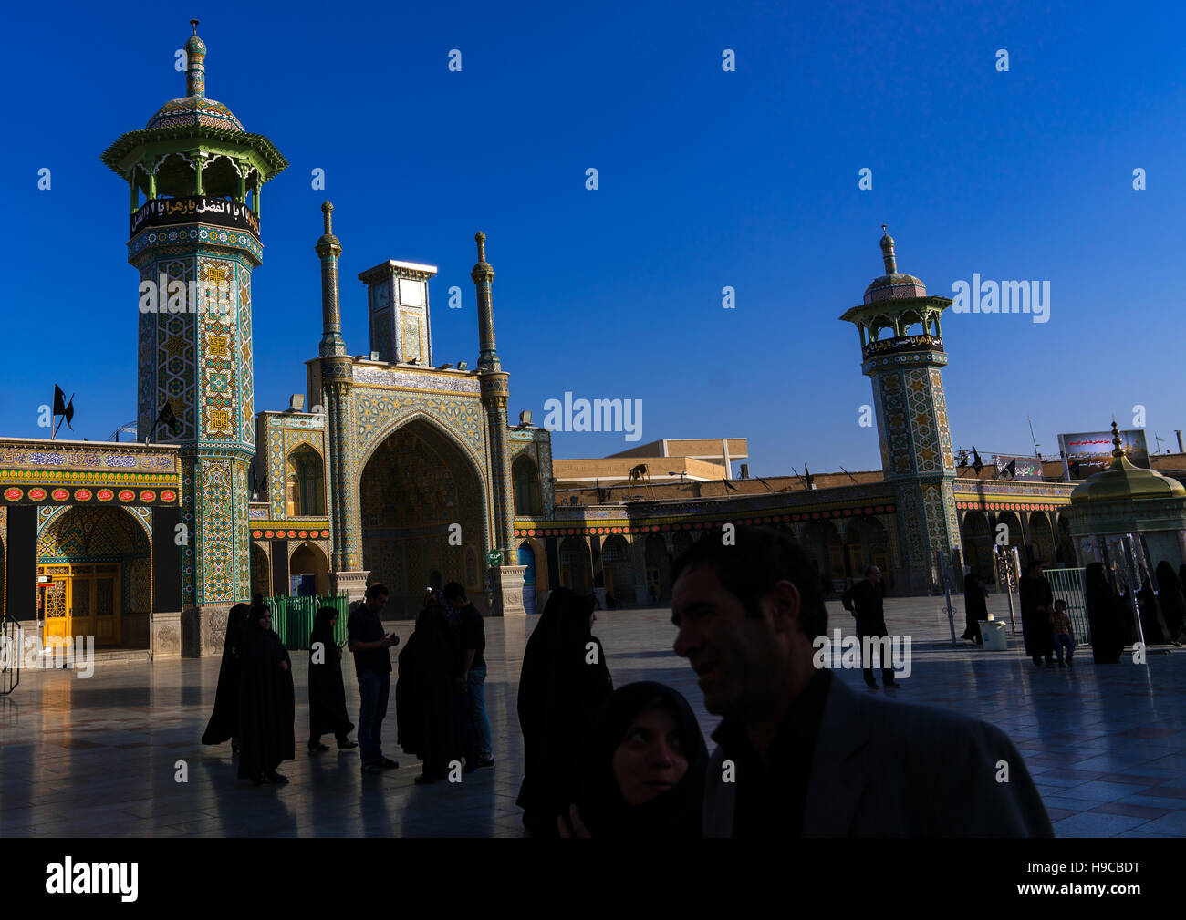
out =
[(707, 765), (688, 701), (663, 684), (627, 684), (606, 701), (593, 728), (581, 791), (575, 810), (560, 818), (560, 836), (700, 837)]

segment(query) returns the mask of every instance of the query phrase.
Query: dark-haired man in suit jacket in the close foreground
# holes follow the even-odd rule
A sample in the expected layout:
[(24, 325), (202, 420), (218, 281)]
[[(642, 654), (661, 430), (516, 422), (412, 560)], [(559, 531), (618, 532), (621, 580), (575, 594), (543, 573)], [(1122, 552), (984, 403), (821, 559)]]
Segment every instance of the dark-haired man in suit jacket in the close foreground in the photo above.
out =
[(738, 528), (675, 563), (676, 654), (723, 716), (707, 837), (1051, 837), (1013, 742), (931, 707), (855, 694), (812, 664), (828, 612), (789, 536)]

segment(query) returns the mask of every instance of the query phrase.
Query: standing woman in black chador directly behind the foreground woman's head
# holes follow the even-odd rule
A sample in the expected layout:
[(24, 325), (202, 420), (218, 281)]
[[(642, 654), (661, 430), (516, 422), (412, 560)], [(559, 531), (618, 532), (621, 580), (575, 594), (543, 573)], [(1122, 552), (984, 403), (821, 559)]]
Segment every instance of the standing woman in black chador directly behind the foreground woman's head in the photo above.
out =
[(523, 785), (515, 804), (531, 836), (556, 837), (580, 786), (578, 758), (613, 691), (593, 603), (568, 588), (551, 592), (523, 651), (518, 717)]

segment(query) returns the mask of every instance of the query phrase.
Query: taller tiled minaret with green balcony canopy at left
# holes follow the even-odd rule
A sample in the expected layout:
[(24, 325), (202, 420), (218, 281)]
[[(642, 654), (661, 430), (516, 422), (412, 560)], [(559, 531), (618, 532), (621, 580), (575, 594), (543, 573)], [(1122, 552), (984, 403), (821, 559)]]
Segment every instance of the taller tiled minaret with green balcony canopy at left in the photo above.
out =
[[(181, 651), (197, 656), (222, 649), (228, 607), (251, 596), (251, 271), (263, 256), (260, 192), (288, 164), (206, 96), (206, 46), (191, 25), (186, 95), (120, 135), (102, 160), (130, 194), (138, 432), (181, 448)], [(166, 408), (176, 429), (159, 421)]]

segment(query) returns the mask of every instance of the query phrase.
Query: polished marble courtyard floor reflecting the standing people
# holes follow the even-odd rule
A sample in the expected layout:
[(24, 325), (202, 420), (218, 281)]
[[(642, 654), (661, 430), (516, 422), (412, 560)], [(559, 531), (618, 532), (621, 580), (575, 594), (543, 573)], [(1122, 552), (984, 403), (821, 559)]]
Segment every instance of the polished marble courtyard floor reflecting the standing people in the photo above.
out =
[[(1007, 621), (1003, 599), (990, 609)], [(852, 618), (829, 605), (846, 634)], [(942, 599), (887, 601), (891, 631), (913, 639), (913, 673), (898, 698), (984, 718), (1021, 749), (1060, 836), (1186, 837), (1186, 650), (1150, 654), (1147, 666), (1096, 666), (1080, 650), (1070, 670), (1035, 669), (1007, 652), (950, 647)], [(706, 734), (694, 675), (671, 652), (667, 611), (599, 614), (614, 683), (657, 679), (681, 690)], [(957, 620), (962, 620), (958, 601)], [(230, 746), (199, 736), (213, 704), (218, 659), (101, 664), (24, 671), (0, 698), (0, 836), (522, 836), (515, 797), (522, 740), (516, 679), (536, 622), (486, 620), (486, 698), (497, 766), (459, 785), (413, 784), (419, 772), (395, 745), (394, 698), (385, 750), (401, 768), (370, 777), (358, 752), (304, 750), (307, 656), (293, 656), (295, 761), (288, 786), (253, 787), (235, 777)], [(389, 624), (401, 637), (410, 622)], [(957, 622), (956, 632), (962, 626)], [(943, 643), (946, 643), (944, 646)], [(939, 647), (932, 647), (938, 645)], [(347, 705), (358, 692), (346, 665)], [(841, 679), (861, 686), (859, 671)], [(882, 692), (882, 691), (878, 691)], [(185, 765), (187, 782), (176, 781)]]

